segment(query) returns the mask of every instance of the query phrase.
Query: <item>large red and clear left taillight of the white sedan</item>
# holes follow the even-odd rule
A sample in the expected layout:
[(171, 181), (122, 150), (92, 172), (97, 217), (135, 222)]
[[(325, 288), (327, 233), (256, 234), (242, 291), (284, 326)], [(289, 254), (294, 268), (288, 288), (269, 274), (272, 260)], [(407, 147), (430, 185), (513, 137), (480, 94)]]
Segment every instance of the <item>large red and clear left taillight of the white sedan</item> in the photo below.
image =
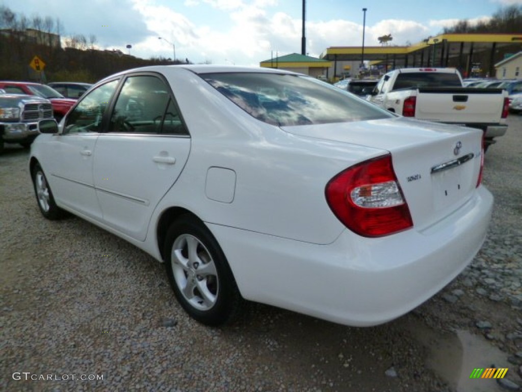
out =
[(341, 171), (328, 182), (325, 195), (342, 224), (363, 237), (382, 237), (413, 226), (389, 154)]

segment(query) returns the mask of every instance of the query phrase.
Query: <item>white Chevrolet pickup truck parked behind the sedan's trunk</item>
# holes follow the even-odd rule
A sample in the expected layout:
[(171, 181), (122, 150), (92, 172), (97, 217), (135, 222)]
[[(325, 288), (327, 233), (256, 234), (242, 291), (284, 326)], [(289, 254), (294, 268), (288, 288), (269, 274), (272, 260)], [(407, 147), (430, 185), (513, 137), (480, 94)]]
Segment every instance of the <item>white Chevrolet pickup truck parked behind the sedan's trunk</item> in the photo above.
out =
[(369, 100), (419, 120), (459, 124), (484, 131), (484, 148), (506, 133), (507, 92), (465, 88), (454, 68), (403, 68), (384, 75)]

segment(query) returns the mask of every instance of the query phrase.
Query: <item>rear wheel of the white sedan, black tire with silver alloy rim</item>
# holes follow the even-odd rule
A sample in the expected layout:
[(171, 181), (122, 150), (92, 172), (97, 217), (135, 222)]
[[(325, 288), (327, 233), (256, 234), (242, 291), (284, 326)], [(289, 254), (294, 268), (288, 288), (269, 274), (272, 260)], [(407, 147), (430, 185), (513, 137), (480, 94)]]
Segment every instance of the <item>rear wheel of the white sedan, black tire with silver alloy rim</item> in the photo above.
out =
[(215, 327), (239, 313), (244, 300), (221, 247), (203, 222), (193, 215), (180, 217), (170, 226), (163, 250), (172, 290), (192, 318)]

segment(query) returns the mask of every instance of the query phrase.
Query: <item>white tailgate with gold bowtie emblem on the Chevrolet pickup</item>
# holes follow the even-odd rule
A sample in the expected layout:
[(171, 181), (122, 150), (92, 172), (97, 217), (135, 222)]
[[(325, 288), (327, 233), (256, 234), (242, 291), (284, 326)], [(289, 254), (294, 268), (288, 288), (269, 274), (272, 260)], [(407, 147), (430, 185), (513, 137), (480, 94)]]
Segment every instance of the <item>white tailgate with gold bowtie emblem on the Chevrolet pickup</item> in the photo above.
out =
[(498, 123), (504, 92), (497, 88), (420, 88), (415, 117), (452, 123)]

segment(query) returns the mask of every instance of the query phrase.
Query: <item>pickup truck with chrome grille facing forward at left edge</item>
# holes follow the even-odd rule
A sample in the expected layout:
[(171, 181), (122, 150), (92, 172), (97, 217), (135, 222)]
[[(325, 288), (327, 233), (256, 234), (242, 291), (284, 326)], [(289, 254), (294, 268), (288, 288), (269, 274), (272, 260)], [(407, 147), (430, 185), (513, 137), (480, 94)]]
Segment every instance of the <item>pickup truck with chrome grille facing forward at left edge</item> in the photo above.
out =
[(0, 152), (4, 143), (29, 147), (40, 133), (39, 121), (52, 118), (53, 108), (48, 99), (0, 91)]

